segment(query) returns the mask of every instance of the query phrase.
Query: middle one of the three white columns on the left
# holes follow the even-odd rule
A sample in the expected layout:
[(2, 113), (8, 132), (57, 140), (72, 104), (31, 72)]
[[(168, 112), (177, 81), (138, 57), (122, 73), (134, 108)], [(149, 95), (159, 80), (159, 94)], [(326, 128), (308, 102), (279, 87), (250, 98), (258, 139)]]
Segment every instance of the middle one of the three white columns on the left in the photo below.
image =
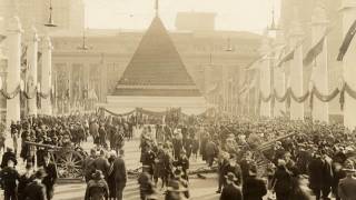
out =
[(31, 96), (28, 100), (29, 106), (29, 114), (37, 116), (37, 61), (38, 61), (38, 36), (37, 30), (34, 28), (31, 29), (29, 34), (29, 46), (27, 50), (27, 60), (29, 68), (29, 77), (27, 82), (27, 92)]

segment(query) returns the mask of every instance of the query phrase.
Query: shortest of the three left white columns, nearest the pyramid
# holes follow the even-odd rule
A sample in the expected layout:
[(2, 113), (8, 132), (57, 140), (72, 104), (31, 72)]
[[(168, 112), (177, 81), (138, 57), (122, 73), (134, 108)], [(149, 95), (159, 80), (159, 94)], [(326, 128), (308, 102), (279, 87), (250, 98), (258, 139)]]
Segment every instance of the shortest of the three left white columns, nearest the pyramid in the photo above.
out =
[(46, 36), (43, 39), (42, 48), (42, 80), (41, 80), (41, 93), (47, 96), (41, 98), (41, 111), (42, 114), (51, 116), (52, 114), (52, 104), (51, 104), (51, 89), (52, 89), (52, 43), (49, 36)]

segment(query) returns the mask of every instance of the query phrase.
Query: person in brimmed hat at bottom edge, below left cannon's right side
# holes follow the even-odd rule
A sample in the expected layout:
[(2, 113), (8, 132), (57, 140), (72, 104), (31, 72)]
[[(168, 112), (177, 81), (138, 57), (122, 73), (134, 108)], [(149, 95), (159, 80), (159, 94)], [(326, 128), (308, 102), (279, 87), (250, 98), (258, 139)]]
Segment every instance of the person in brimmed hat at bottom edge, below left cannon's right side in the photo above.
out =
[(109, 187), (100, 170), (96, 170), (87, 184), (85, 200), (108, 200)]

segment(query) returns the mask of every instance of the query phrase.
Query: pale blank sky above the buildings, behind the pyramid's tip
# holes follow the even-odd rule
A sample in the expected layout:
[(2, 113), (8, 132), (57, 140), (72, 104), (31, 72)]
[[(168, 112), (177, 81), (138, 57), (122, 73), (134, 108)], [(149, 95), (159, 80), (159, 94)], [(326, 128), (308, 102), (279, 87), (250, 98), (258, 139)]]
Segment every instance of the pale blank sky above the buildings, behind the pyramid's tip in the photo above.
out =
[[(263, 32), (280, 0), (160, 0), (159, 13), (174, 30), (179, 11), (216, 12), (218, 30)], [(85, 0), (86, 26), (99, 29), (147, 29), (155, 14), (155, 0)]]

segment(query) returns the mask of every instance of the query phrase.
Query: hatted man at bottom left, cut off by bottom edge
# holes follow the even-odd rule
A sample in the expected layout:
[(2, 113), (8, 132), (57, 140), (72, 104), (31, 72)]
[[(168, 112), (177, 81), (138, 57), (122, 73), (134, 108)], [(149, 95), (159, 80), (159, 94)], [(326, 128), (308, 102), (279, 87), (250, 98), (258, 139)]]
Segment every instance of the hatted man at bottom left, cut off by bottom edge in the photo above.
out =
[(39, 169), (34, 173), (34, 180), (24, 188), (23, 199), (47, 200), (46, 186), (42, 184), (42, 179), (44, 177), (46, 177), (46, 171), (43, 169)]

